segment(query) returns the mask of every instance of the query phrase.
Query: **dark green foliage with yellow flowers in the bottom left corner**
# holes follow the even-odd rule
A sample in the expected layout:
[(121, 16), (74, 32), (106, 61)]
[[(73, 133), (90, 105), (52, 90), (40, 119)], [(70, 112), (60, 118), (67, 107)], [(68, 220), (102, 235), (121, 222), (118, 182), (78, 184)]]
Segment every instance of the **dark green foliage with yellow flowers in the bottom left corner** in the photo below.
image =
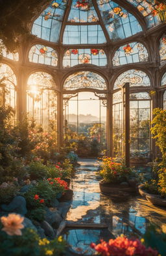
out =
[(5, 231), (0, 231), (0, 243), (1, 256), (60, 256), (66, 247), (62, 237), (51, 241), (41, 239), (36, 231), (27, 228), (23, 229), (21, 236), (9, 236)]

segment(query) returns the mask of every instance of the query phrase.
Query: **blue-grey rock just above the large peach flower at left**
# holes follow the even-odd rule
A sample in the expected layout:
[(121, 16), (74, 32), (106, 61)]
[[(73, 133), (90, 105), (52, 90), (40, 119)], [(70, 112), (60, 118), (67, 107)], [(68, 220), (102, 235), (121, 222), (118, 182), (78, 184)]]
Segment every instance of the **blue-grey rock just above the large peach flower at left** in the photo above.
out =
[(27, 213), (26, 200), (21, 195), (17, 195), (9, 205), (1, 205), (1, 209), (5, 212), (16, 212), (25, 215)]

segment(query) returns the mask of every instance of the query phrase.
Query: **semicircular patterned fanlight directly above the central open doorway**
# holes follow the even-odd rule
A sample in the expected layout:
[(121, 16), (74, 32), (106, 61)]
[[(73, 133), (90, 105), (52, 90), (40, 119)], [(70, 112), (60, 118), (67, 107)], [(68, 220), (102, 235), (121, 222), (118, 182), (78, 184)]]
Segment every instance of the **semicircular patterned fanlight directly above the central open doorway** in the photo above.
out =
[(65, 79), (64, 89), (69, 91), (77, 89), (106, 90), (106, 81), (94, 72), (77, 72)]

